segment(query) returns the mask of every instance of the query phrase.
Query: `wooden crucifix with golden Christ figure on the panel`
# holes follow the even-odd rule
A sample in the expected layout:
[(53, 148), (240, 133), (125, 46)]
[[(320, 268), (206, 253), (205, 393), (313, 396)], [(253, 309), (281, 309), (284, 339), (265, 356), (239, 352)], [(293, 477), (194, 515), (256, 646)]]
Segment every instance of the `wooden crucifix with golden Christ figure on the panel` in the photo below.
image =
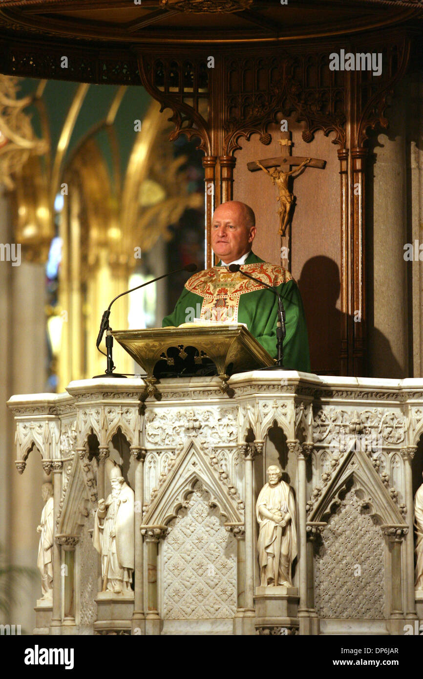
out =
[[(318, 158), (304, 158), (291, 155), (291, 132), (281, 132), (279, 143), (282, 153), (284, 147), (287, 147), (284, 155), (280, 155), (277, 158), (265, 158), (265, 160), (253, 160), (253, 162), (247, 163), (247, 168), (249, 168), (250, 172), (263, 170), (270, 176), (274, 185), (278, 187), (279, 196), (277, 200), (279, 202), (278, 215), (280, 219), (278, 234), (281, 236), (280, 259), (282, 266), (290, 269), (291, 257), (289, 257), (289, 240), (291, 233), (289, 226), (295, 203), (295, 196), (289, 190), (289, 177), (295, 179), (295, 177), (298, 177), (302, 170), (307, 167), (320, 168), (323, 170), (326, 161), (319, 160)], [(291, 170), (291, 167), (294, 169)]]

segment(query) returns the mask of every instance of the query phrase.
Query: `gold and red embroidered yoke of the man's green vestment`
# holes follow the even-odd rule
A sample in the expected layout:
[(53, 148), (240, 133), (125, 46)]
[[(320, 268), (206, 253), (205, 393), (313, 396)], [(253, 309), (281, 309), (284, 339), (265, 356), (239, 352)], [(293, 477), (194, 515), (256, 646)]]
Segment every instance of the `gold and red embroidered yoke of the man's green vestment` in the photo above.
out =
[[(289, 271), (266, 262), (244, 264), (242, 270), (268, 285), (277, 286), (293, 280)], [(240, 272), (232, 274), (223, 266), (199, 271), (187, 280), (185, 287), (189, 292), (204, 297), (201, 318), (221, 323), (237, 323), (240, 296), (262, 289), (259, 282), (242, 276)]]

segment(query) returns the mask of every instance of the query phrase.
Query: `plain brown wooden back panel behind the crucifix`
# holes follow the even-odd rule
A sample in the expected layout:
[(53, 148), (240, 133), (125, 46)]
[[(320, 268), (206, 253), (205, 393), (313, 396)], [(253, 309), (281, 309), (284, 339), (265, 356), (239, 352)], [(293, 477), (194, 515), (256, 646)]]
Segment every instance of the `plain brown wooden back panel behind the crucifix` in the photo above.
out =
[[(324, 170), (308, 168), (294, 181), (297, 204), (291, 227), (291, 273), (299, 285), (306, 311), (312, 371), (337, 375), (340, 371), (340, 190), (337, 147), (331, 134), (316, 132), (306, 144), (304, 124), (289, 118), (293, 155), (326, 160)], [(266, 261), (280, 265), (277, 191), (264, 172), (249, 172), (251, 160), (280, 155), (278, 124), (270, 124), (272, 142), (264, 146), (258, 134), (240, 141), (234, 169), (234, 200), (242, 200), (255, 211), (257, 236), (254, 251)]]

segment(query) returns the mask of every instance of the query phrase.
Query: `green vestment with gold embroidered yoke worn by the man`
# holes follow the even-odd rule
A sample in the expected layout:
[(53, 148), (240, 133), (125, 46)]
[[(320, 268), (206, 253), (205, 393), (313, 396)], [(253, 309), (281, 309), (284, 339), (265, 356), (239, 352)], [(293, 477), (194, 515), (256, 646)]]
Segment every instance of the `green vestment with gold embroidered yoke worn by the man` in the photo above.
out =
[[(232, 274), (221, 264), (197, 272), (187, 280), (174, 311), (165, 316), (162, 327), (177, 327), (194, 318), (245, 323), (261, 346), (272, 358), (276, 358), (276, 295), (240, 272)], [(284, 365), (310, 372), (306, 318), (295, 280), (287, 270), (266, 263), (253, 252), (246, 258), (242, 270), (276, 287), (286, 314)]]

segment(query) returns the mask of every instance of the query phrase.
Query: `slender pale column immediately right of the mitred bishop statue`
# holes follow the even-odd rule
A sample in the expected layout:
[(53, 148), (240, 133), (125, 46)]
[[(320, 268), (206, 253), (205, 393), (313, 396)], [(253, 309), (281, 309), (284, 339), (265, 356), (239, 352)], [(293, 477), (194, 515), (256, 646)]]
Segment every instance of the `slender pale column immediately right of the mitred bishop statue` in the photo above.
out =
[[(143, 536), (141, 521), (144, 504), (144, 460), (146, 450), (139, 445), (131, 445), (135, 460), (135, 564), (134, 564), (134, 614), (132, 615), (132, 634), (145, 634), (145, 614), (143, 598)], [(139, 631), (140, 630), (140, 631)]]

